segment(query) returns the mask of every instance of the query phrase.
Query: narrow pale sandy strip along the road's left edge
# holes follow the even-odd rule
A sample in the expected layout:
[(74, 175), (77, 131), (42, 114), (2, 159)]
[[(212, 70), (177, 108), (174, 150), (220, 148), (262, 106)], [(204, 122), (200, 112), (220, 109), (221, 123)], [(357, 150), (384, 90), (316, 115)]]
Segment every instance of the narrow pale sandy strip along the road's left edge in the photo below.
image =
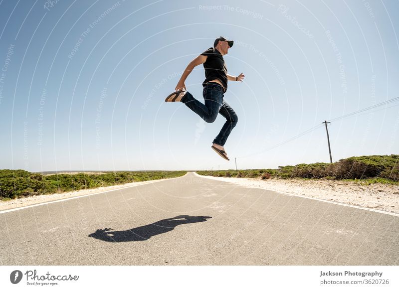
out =
[[(181, 177), (183, 177), (183, 176), (181, 176)], [(181, 177), (176, 177), (176, 178), (181, 178)], [(76, 197), (76, 196), (101, 193), (101, 192), (106, 192), (106, 191), (110, 191), (110, 190), (114, 190), (114, 189), (137, 186), (137, 185), (141, 185), (141, 184), (154, 183), (154, 182), (159, 182), (159, 181), (163, 181), (163, 180), (167, 180), (167, 179), (170, 179), (170, 178), (125, 183), (125, 184), (112, 185), (112, 186), (107, 186), (107, 187), (98, 187), (98, 188), (93, 188), (93, 189), (82, 189), (82, 190), (68, 191), (68, 192), (63, 192), (63, 193), (34, 195), (34, 196), (17, 198), (17, 199), (11, 199), (8, 201), (0, 201), (0, 211), (12, 209), (12, 208), (23, 207), (23, 206), (28, 206), (28, 205), (33, 205), (33, 204), (40, 204), (43, 202), (49, 202), (49, 201), (54, 201), (54, 200), (61, 200), (61, 199), (66, 199), (66, 198), (71, 198), (71, 197)]]

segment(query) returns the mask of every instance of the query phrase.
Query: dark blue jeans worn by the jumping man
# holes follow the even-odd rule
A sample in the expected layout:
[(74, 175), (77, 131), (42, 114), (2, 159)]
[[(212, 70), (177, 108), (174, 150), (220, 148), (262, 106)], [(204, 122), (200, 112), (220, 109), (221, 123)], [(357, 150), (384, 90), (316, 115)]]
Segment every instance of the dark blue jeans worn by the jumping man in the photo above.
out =
[(219, 135), (213, 140), (213, 143), (224, 146), (231, 131), (237, 125), (237, 114), (223, 100), (223, 88), (220, 85), (207, 83), (203, 88), (202, 96), (205, 104), (196, 100), (189, 92), (186, 92), (182, 102), (206, 123), (214, 122), (218, 113), (226, 118), (226, 123), (221, 128)]

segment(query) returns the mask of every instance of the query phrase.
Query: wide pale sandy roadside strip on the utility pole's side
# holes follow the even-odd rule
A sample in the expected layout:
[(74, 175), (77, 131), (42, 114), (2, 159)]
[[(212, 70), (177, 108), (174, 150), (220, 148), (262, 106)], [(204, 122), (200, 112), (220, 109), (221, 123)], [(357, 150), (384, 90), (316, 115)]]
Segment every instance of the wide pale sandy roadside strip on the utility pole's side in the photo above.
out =
[(355, 182), (340, 180), (274, 178), (261, 180), (259, 178), (199, 176), (249, 187), (264, 188), (399, 214), (398, 185), (381, 183), (361, 185)]

